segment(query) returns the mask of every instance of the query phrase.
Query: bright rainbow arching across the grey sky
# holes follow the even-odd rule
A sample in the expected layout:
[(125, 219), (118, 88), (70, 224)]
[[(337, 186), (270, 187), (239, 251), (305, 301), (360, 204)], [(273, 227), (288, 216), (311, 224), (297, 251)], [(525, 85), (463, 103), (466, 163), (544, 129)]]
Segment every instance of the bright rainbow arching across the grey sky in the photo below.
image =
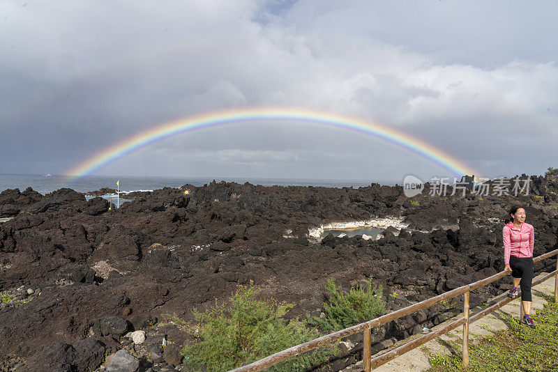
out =
[(337, 114), (326, 114), (320, 111), (280, 109), (273, 107), (213, 111), (209, 114), (190, 116), (169, 123), (157, 125), (156, 127), (135, 134), (133, 137), (129, 137), (114, 146), (96, 153), (89, 159), (66, 172), (66, 177), (68, 180), (71, 180), (73, 178), (89, 176), (99, 169), (102, 169), (104, 166), (107, 166), (107, 164), (133, 153), (135, 150), (144, 146), (149, 146), (156, 141), (175, 136), (176, 134), (232, 123), (269, 123), (273, 121), (296, 121), (301, 123), (319, 124), (368, 134), (372, 137), (389, 141), (392, 144), (421, 155), (430, 162), (438, 164), (447, 171), (450, 171), (453, 176), (462, 176), (464, 174), (475, 174), (477, 177), (480, 176), (479, 172), (474, 171), (474, 169), (470, 168), (466, 164), (456, 160), (454, 157), (451, 157), (451, 155), (445, 153), (443, 150), (436, 148), (431, 144), (427, 144), (420, 139), (411, 137), (409, 134), (386, 127), (385, 125), (372, 123), (370, 121), (363, 121), (357, 118), (347, 118)]

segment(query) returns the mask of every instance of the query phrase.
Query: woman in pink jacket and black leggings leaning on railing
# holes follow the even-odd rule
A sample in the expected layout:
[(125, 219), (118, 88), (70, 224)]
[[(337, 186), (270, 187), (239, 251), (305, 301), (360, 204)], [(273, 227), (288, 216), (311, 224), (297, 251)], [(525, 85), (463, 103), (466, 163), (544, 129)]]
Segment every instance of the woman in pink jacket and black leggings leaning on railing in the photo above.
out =
[(504, 238), (504, 270), (511, 270), (513, 286), (508, 297), (518, 293), (521, 286), (521, 303), (525, 316), (522, 323), (534, 328), (531, 319), (531, 282), (533, 281), (533, 247), (535, 243), (535, 228), (525, 223), (525, 209), (515, 206), (510, 210), (511, 218), (506, 219), (502, 230)]

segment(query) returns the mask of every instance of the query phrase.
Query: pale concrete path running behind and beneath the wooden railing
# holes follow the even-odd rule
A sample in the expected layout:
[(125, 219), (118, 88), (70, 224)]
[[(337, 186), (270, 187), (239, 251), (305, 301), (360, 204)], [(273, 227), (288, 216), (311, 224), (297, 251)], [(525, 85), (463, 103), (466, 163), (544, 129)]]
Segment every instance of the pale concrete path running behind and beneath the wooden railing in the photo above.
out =
[[(533, 280), (542, 277), (544, 274), (546, 273), (539, 274), (538, 277), (534, 278)], [(533, 315), (535, 323), (536, 323), (536, 316), (535, 316), (536, 309), (542, 309), (543, 304), (547, 303), (546, 300), (543, 299), (543, 297), (538, 295), (538, 293), (545, 293), (547, 295), (552, 295), (552, 297), (554, 297), (554, 286), (555, 286), (555, 279), (552, 277), (546, 281), (543, 281), (543, 283), (538, 284), (538, 286), (532, 288), (531, 293), (533, 295), (533, 304), (531, 305), (531, 315)], [(506, 293), (502, 293), (502, 295), (494, 297), (492, 300), (490, 300), (489, 303), (492, 304), (499, 300), (502, 300), (502, 298), (504, 298), (505, 296)], [(485, 307), (476, 307), (475, 309), (471, 309), (471, 315), (477, 313), (478, 311), (481, 311), (482, 309), (485, 309)], [(490, 313), (488, 316), (485, 316), (484, 318), (477, 320), (475, 323), (469, 325), (469, 344), (475, 343), (482, 336), (488, 336), (493, 334), (493, 332), (507, 330), (508, 326), (506, 325), (506, 323), (504, 323), (503, 320), (501, 320), (501, 318), (499, 318), (499, 316), (502, 313), (511, 314), (512, 316), (518, 318), (519, 320), (520, 299), (515, 299), (512, 302), (509, 302), (508, 304), (506, 304), (506, 306), (498, 309), (497, 311), (494, 311), (493, 313)], [(458, 316), (455, 316), (455, 318), (446, 320), (446, 322), (442, 323), (442, 325), (437, 325), (436, 327), (434, 327), (434, 330), (437, 330), (439, 327), (442, 327), (447, 323), (453, 322), (454, 320), (461, 318), (461, 316), (462, 314), (459, 314)], [(442, 336), (437, 337), (437, 339), (433, 339), (432, 341), (425, 343), (423, 346), (419, 346), (418, 348), (411, 350), (406, 354), (401, 355), (398, 358), (393, 359), (391, 362), (388, 362), (383, 366), (379, 366), (377, 369), (374, 369), (374, 371), (375, 372), (426, 371), (427, 369), (430, 369), (430, 362), (428, 362), (430, 354), (440, 354), (440, 353), (450, 354), (451, 352), (461, 353), (462, 336), (463, 336), (462, 332), (463, 332), (463, 327), (462, 326), (458, 327), (451, 332), (448, 332)], [(382, 352), (379, 352), (379, 354), (377, 355), (381, 355), (384, 352), (397, 348), (398, 346), (401, 346), (403, 343), (406, 343), (411, 339), (415, 339), (418, 336), (421, 336), (421, 334), (417, 334), (410, 337), (409, 339), (402, 340), (396, 343), (394, 346), (391, 346), (391, 348), (382, 350)], [(451, 342), (457, 341), (459, 345), (458, 350), (453, 350), (453, 347), (447, 341), (451, 341)], [(363, 371), (362, 361), (352, 366), (348, 366), (342, 371), (344, 372)]]

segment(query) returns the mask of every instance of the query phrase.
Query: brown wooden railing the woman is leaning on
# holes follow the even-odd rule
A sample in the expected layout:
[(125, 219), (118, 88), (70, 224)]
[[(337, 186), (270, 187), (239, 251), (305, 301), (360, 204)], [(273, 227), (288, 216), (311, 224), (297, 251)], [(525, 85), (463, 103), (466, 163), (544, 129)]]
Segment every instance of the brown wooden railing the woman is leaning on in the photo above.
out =
[[(534, 262), (542, 261), (545, 258), (549, 258), (549, 257), (552, 257), (552, 256), (557, 256), (557, 258), (556, 258), (556, 270), (553, 271), (553, 272), (550, 272), (549, 274), (546, 274), (544, 277), (541, 277), (541, 278), (537, 279), (536, 281), (533, 281), (531, 286), (536, 286), (538, 284), (541, 284), (543, 281), (545, 281), (547, 279), (550, 279), (551, 277), (555, 277), (554, 296), (555, 296), (555, 301), (558, 302), (558, 249), (555, 249), (554, 251), (550, 251), (546, 254), (538, 256), (538, 257), (534, 258), (533, 261)], [(518, 297), (518, 295), (515, 295), (514, 297), (511, 297), (511, 298), (506, 297), (504, 300), (500, 300), (496, 304), (493, 304), (491, 307), (488, 307), (488, 308), (484, 309), (483, 311), (480, 311), (479, 313), (474, 314), (474, 316), (470, 316), (470, 313), (469, 313), (469, 293), (472, 290), (475, 290), (475, 289), (481, 288), (483, 286), (486, 286), (486, 285), (492, 283), (493, 281), (497, 281), (498, 279), (501, 279), (501, 278), (505, 277), (506, 275), (508, 275), (510, 273), (511, 272), (509, 272), (509, 271), (499, 272), (497, 274), (492, 275), (492, 277), (481, 279), (479, 281), (475, 281), (472, 284), (467, 284), (466, 286), (455, 288), (455, 289), (450, 290), (446, 293), (442, 293), (442, 295), (437, 295), (436, 297), (430, 297), (427, 300), (424, 300), (422, 302), (418, 302), (417, 304), (412, 304), (411, 306), (405, 307), (403, 309), (399, 309), (397, 311), (393, 311), (392, 313), (386, 314), (384, 316), (380, 316), (379, 318), (368, 320), (367, 322), (360, 323), (360, 324), (357, 324), (357, 325), (353, 325), (352, 327), (345, 328), (344, 330), (340, 330), (340, 331), (337, 331), (337, 332), (326, 334), (325, 336), (321, 336), (321, 337), (319, 337), (317, 339), (314, 339), (312, 341), (308, 341), (306, 343), (301, 343), (299, 345), (293, 346), (292, 348), (288, 348), (286, 350), (276, 352), (273, 355), (269, 355), (269, 357), (264, 357), (263, 359), (259, 359), (257, 362), (253, 362), (252, 364), (248, 364), (246, 366), (241, 366), (237, 369), (233, 369), (230, 372), (262, 371), (263, 369), (266, 369), (270, 366), (273, 366), (274, 364), (278, 364), (278, 363), (280, 363), (280, 362), (282, 362), (286, 359), (289, 359), (291, 357), (295, 357), (296, 355), (300, 355), (303, 352), (308, 352), (310, 350), (314, 350), (315, 348), (319, 348), (320, 346), (324, 346), (328, 343), (331, 343), (333, 341), (337, 341), (338, 339), (342, 339), (342, 338), (347, 337), (347, 336), (351, 336), (352, 334), (356, 334), (358, 332), (363, 332), (363, 342), (364, 342), (364, 346), (363, 346), (363, 369), (364, 369), (365, 372), (370, 372), (372, 369), (375, 369), (378, 366), (381, 366), (382, 364), (384, 364), (386, 362), (389, 362), (391, 359), (395, 359), (395, 357), (398, 357), (402, 354), (405, 354), (405, 352), (413, 350), (414, 348), (418, 348), (418, 346), (421, 346), (424, 343), (427, 343), (428, 341), (430, 341), (432, 339), (435, 339), (437, 336), (440, 336), (442, 334), (446, 334), (447, 332), (450, 332), (451, 330), (455, 330), (455, 328), (459, 327), (460, 325), (463, 326), (462, 364), (463, 364), (464, 367), (467, 367), (467, 366), (469, 366), (469, 325), (471, 323), (476, 322), (476, 320), (479, 320), (479, 319), (483, 318), (484, 316), (487, 316), (488, 314), (492, 313), (492, 311), (496, 311), (497, 309), (500, 309), (505, 304), (515, 300), (515, 298)], [(399, 346), (398, 348), (394, 348), (393, 350), (390, 350), (389, 352), (386, 352), (386, 353), (384, 353), (382, 355), (379, 355), (379, 356), (372, 359), (372, 355), (371, 355), (371, 352), (372, 352), (372, 328), (378, 327), (379, 325), (384, 325), (388, 322), (391, 322), (391, 320), (395, 320), (395, 319), (401, 318), (403, 316), (407, 316), (407, 315), (412, 314), (416, 311), (425, 309), (426, 307), (430, 307), (432, 305), (439, 304), (440, 302), (442, 302), (444, 300), (449, 300), (453, 297), (457, 297), (458, 295), (464, 295), (464, 297), (465, 297), (465, 300), (464, 300), (464, 303), (463, 303), (463, 316), (461, 318), (459, 318), (458, 320), (455, 320), (453, 323), (449, 323), (447, 325), (444, 325), (443, 327), (439, 328), (438, 330), (432, 331), (428, 334), (424, 334), (423, 336), (420, 336), (417, 339), (409, 341), (409, 342), (403, 344), (402, 346)], [(522, 312), (521, 302), (520, 302), (520, 308), (521, 308), (521, 312)]]

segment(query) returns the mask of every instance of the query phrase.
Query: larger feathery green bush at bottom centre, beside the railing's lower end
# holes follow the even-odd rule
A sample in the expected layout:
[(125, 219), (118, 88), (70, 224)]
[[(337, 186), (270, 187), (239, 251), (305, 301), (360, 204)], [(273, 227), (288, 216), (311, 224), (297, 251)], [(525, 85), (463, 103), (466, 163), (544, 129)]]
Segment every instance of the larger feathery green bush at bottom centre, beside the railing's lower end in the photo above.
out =
[[(193, 309), (195, 324), (190, 325), (190, 333), (196, 341), (182, 350), (190, 366), (204, 364), (209, 371), (229, 371), (319, 337), (317, 330), (281, 318), (293, 304), (256, 300), (256, 294), (252, 284), (240, 286), (230, 297), (229, 307), (216, 304), (203, 313)], [(322, 346), (267, 371), (304, 371), (326, 362), (335, 350), (335, 344)]]

